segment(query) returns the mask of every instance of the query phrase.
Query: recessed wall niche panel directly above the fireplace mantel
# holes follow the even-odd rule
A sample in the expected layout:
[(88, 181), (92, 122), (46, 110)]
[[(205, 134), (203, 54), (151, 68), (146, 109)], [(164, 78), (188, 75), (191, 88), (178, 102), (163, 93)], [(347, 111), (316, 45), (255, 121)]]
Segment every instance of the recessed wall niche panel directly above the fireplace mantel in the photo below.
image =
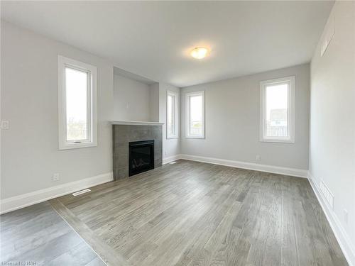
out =
[(150, 87), (114, 74), (114, 120), (151, 121)]

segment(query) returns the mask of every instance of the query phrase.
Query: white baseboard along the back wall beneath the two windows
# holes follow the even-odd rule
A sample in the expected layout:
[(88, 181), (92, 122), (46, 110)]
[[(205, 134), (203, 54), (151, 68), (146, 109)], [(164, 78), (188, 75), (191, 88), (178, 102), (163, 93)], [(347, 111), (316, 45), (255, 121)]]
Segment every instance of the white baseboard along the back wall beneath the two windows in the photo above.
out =
[(286, 175), (291, 175), (293, 177), (303, 177), (303, 178), (308, 177), (307, 170), (280, 167), (274, 165), (260, 165), (253, 162), (239, 162), (234, 160), (224, 160), (224, 159), (213, 158), (213, 157), (202, 157), (202, 156), (187, 155), (187, 154), (180, 155), (180, 159), (197, 161), (197, 162), (207, 162), (207, 163), (212, 163), (214, 165), (225, 165), (229, 167), (237, 167), (237, 168), (256, 170), (261, 172), (271, 172), (273, 174), (286, 174)]

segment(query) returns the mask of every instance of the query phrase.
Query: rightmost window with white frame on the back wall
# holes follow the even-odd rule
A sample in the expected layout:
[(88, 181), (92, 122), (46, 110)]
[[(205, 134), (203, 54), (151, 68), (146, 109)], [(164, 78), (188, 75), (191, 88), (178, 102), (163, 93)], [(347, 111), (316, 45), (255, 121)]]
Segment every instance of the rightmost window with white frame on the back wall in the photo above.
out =
[(260, 140), (295, 142), (295, 77), (260, 83)]

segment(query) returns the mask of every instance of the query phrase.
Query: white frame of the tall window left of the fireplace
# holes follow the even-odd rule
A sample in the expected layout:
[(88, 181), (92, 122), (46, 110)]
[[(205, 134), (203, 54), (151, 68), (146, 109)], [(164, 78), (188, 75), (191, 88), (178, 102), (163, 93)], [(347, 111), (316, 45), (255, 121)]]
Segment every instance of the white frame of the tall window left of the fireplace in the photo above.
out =
[[(88, 140), (67, 141), (67, 115), (65, 91), (65, 67), (88, 73), (87, 121)], [(58, 135), (59, 149), (75, 149), (97, 146), (97, 67), (58, 55)]]

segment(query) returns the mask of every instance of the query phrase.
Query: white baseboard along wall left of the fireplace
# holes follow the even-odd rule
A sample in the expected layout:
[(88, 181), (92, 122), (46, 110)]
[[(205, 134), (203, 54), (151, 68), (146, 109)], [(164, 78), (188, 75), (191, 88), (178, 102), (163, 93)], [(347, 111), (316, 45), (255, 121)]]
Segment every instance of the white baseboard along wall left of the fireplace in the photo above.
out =
[(18, 196), (11, 196), (10, 198), (0, 201), (0, 214), (5, 214), (9, 211), (31, 206), (48, 199), (54, 199), (58, 196), (77, 192), (88, 187), (94, 187), (98, 184), (103, 184), (113, 180), (112, 172), (106, 174), (99, 174), (95, 177), (84, 178), (75, 182), (60, 184), (55, 187), (48, 187), (48, 189), (40, 189), (35, 192), (30, 192)]

